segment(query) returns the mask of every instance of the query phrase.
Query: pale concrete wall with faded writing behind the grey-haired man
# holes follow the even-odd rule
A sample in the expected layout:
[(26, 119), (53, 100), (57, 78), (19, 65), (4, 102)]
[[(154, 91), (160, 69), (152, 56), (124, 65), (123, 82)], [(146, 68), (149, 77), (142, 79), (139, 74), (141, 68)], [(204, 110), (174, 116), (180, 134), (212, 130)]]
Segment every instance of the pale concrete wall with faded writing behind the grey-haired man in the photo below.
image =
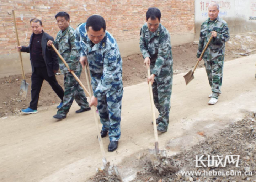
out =
[(208, 18), (210, 2), (219, 4), (219, 16), (228, 23), (230, 34), (256, 30), (256, 0), (195, 0), (196, 40), (199, 39), (201, 24)]

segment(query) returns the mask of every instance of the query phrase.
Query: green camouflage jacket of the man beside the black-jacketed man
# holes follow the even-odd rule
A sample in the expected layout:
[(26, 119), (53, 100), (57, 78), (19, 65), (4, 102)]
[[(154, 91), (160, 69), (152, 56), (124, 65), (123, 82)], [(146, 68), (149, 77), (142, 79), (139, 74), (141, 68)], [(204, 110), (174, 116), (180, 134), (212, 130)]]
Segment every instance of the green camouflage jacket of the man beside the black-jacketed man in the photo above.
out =
[[(69, 65), (69, 69), (73, 71), (81, 71), (82, 65), (79, 63), (80, 57), (78, 51), (76, 50), (74, 39), (74, 28), (69, 26), (63, 33), (61, 30), (58, 32), (54, 45), (59, 50), (59, 53), (62, 55), (66, 63)], [(59, 67), (62, 74), (69, 72), (68, 68), (60, 58)]]

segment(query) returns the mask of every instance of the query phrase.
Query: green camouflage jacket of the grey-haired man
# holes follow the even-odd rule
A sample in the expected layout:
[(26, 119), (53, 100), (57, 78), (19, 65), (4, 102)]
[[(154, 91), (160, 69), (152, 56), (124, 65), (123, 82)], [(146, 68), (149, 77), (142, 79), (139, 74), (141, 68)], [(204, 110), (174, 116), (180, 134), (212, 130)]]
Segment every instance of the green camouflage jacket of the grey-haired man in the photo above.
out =
[(200, 57), (204, 47), (211, 37), (212, 31), (217, 32), (217, 37), (212, 39), (206, 52), (203, 55), (203, 59), (210, 61), (218, 56), (222, 56), (224, 59), (225, 42), (229, 40), (229, 30), (227, 23), (220, 17), (211, 21), (210, 18), (203, 22), (200, 31), (200, 39), (197, 51), (197, 58)]

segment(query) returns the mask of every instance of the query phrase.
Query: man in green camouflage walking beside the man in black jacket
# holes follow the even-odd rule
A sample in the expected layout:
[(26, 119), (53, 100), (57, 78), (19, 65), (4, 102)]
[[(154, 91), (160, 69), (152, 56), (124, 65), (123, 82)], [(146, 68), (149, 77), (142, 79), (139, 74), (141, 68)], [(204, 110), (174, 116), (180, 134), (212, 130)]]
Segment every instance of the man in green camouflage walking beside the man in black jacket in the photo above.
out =
[[(60, 71), (62, 74), (64, 74), (65, 93), (63, 105), (53, 117), (56, 119), (64, 119), (66, 118), (74, 99), (81, 107), (78, 111), (76, 111), (76, 113), (88, 111), (91, 108), (87, 102), (84, 90), (79, 85), (78, 81), (76, 81), (75, 77), (69, 72), (70, 70), (73, 70), (78, 78), (81, 76), (82, 72), (82, 66), (79, 63), (79, 53), (76, 50), (76, 45), (74, 42), (74, 28), (69, 25), (69, 14), (66, 12), (59, 12), (55, 16), (55, 19), (57, 20), (60, 31), (57, 34), (54, 45), (59, 50), (66, 63), (69, 65), (69, 69), (59, 58)], [(47, 45), (50, 46), (52, 43), (52, 41), (48, 41)]]

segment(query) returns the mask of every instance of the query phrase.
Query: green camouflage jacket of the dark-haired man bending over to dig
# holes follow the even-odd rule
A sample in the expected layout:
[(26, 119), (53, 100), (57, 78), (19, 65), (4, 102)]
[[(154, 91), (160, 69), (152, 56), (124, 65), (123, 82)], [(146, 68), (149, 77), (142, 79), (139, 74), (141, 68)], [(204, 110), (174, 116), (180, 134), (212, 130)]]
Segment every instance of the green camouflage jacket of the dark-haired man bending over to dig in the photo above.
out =
[(158, 78), (170, 75), (173, 65), (170, 34), (161, 23), (154, 33), (150, 32), (146, 23), (142, 26), (140, 52), (144, 59), (150, 58), (152, 74)]

